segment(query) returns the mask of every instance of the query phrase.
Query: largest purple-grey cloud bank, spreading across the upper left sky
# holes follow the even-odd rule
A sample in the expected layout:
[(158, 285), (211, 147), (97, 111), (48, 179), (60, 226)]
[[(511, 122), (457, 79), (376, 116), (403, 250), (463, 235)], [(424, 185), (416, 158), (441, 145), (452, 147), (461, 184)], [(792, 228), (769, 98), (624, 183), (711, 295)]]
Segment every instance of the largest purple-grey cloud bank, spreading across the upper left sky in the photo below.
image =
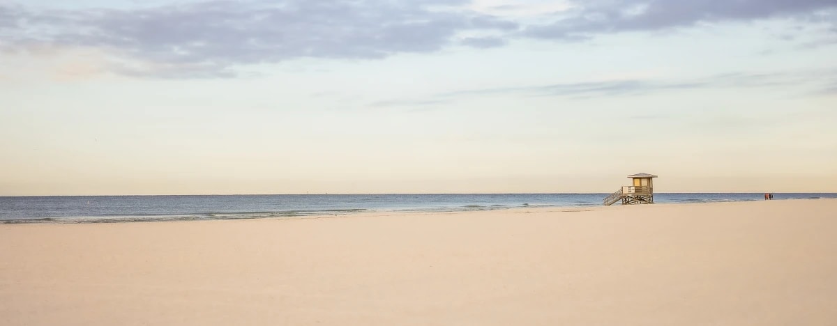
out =
[[(28, 23), (12, 43), (107, 48), (133, 61), (126, 74), (224, 76), (237, 64), (298, 58), (378, 59), (430, 53), (466, 31), (512, 30), (516, 23), (455, 9), (462, 0), (212, 1), (131, 10), (28, 12), (0, 8), (0, 26)], [(11, 18), (9, 18), (11, 17)], [(12, 21), (12, 23), (9, 23)], [(499, 40), (470, 41), (483, 46)], [(467, 42), (466, 42), (467, 43)]]

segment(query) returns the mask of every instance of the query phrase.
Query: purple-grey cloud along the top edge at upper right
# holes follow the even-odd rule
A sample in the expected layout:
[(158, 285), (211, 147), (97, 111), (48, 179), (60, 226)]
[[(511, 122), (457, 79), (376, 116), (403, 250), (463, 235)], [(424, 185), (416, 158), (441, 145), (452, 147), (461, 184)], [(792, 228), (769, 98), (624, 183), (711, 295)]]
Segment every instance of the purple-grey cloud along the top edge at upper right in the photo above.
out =
[(837, 8), (834, 0), (584, 0), (552, 23), (529, 26), (534, 38), (578, 39), (600, 33), (650, 31), (697, 23), (810, 15)]

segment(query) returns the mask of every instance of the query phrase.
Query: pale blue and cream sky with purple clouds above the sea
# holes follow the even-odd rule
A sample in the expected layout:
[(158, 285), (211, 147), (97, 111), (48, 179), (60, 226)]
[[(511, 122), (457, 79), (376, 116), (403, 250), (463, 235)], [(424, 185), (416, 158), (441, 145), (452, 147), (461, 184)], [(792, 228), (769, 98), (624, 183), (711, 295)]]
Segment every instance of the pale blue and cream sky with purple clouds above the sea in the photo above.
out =
[(0, 196), (837, 192), (837, 0), (0, 0)]

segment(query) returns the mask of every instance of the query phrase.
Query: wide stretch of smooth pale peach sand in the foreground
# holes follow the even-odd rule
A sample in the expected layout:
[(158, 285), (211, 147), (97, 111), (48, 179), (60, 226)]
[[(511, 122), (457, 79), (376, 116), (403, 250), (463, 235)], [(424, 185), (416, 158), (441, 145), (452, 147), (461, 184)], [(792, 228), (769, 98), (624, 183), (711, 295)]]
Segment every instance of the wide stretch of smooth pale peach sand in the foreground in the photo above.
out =
[(0, 225), (0, 324), (826, 325), (837, 201)]

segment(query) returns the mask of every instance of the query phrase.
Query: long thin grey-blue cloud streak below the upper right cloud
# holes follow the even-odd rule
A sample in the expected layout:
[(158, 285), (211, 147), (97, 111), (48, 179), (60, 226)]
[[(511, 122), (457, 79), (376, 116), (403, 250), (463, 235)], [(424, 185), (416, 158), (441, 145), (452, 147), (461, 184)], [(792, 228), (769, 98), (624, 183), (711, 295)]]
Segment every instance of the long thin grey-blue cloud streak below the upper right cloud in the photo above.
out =
[[(531, 85), (491, 89), (466, 89), (455, 92), (432, 94), (424, 99), (391, 99), (374, 102), (372, 106), (414, 106), (448, 104), (457, 99), (496, 94), (521, 96), (555, 96), (569, 99), (590, 99), (598, 97), (653, 94), (664, 90), (721, 89), (721, 88), (767, 88), (798, 84), (824, 83), (837, 77), (837, 69), (800, 71), (793, 73), (732, 73), (717, 74), (698, 79), (619, 79), (599, 80), (583, 83)], [(829, 93), (825, 91), (824, 93)]]

